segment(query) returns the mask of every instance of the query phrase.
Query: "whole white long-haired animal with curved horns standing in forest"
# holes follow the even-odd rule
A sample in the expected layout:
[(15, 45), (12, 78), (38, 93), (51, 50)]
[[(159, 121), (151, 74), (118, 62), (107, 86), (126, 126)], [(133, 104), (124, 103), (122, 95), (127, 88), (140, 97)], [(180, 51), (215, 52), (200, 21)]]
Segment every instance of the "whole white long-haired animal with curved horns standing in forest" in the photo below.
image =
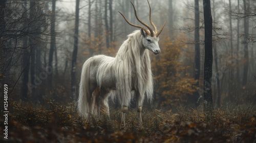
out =
[[(150, 7), (150, 3), (148, 1), (147, 3)], [(137, 20), (148, 30), (129, 22), (119, 12), (129, 25), (140, 30), (127, 36), (128, 39), (122, 43), (115, 58), (97, 55), (86, 60), (82, 66), (78, 112), (87, 120), (90, 120), (92, 115), (99, 116), (100, 111), (110, 114), (108, 98), (113, 93), (121, 104), (121, 126), (124, 127), (125, 112), (133, 98), (131, 92), (134, 90), (138, 122), (142, 126), (141, 112), (145, 94), (151, 101), (153, 99), (153, 75), (149, 51), (154, 54), (160, 53), (158, 41), (165, 22), (158, 31), (152, 21), (150, 7), (150, 23), (155, 30), (153, 31), (149, 25), (139, 19), (133, 3), (132, 6)]]

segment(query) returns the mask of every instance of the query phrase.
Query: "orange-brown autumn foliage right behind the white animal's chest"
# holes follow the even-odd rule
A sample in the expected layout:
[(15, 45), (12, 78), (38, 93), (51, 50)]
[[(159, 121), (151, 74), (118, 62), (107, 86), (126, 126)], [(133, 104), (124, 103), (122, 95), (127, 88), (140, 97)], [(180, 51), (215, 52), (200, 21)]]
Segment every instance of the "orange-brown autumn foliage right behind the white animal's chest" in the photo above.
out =
[(160, 41), (161, 53), (152, 56), (152, 70), (156, 80), (155, 91), (160, 105), (174, 106), (185, 103), (187, 95), (196, 90), (197, 82), (186, 71), (191, 65), (185, 65), (181, 54), (187, 48), (185, 44), (165, 36)]

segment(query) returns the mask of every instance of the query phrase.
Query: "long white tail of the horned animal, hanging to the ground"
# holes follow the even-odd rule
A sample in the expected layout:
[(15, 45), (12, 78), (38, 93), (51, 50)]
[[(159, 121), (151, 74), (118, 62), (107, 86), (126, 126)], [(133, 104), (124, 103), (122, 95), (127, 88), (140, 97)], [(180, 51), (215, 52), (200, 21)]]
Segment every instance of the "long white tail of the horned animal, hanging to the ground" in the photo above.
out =
[(84, 62), (81, 72), (81, 80), (79, 84), (78, 112), (81, 116), (89, 120), (90, 114), (93, 114), (93, 106), (95, 102), (92, 100), (92, 92), (90, 92), (90, 66), (91, 59)]

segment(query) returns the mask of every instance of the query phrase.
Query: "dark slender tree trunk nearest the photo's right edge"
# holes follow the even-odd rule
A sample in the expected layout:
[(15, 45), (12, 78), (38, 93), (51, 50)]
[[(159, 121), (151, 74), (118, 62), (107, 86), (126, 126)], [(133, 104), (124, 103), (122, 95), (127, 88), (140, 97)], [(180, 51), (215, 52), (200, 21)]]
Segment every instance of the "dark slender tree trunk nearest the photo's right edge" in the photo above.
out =
[[(247, 3), (245, 0), (243, 0), (244, 2), (244, 13), (245, 16), (248, 13), (248, 9), (247, 9)], [(244, 32), (247, 35), (249, 33), (249, 23), (248, 23), (248, 18), (244, 18)], [(244, 41), (247, 41), (247, 36), (244, 36)], [(243, 74), (243, 86), (246, 86), (247, 84), (247, 76), (248, 76), (248, 65), (249, 65), (249, 54), (248, 54), (248, 43), (246, 42), (244, 44), (244, 74)]]

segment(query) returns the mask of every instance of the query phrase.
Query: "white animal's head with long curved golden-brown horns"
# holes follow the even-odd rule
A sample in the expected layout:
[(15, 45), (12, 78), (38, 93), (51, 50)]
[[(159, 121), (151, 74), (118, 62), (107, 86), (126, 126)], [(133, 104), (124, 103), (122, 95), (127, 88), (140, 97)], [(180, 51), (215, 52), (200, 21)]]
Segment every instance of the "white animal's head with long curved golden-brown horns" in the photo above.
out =
[[(132, 3), (132, 2), (131, 2)], [(148, 6), (150, 7), (150, 3), (148, 2), (147, 0), (147, 3), (148, 3)], [(134, 4), (132, 3), (133, 5), (133, 8), (134, 8), (134, 13), (135, 13), (135, 16), (136, 16), (136, 19), (143, 25), (145, 26), (148, 30), (146, 30), (144, 27), (141, 27), (141, 26), (138, 26), (138, 25), (134, 25), (133, 23), (129, 22), (127, 20), (127, 18), (121, 13), (119, 12), (123, 18), (125, 19), (125, 21), (127, 23), (129, 23), (129, 25), (133, 26), (133, 27), (136, 27), (136, 28), (140, 28), (140, 33), (142, 35), (142, 44), (143, 46), (152, 51), (155, 55), (159, 54), (160, 53), (160, 47), (158, 45), (158, 41), (159, 41), (159, 35), (160, 33), (162, 32), (163, 28), (164, 28), (164, 25), (165, 25), (165, 22), (163, 23), (163, 26), (162, 28), (158, 31), (156, 26), (154, 25), (153, 21), (152, 21), (152, 18), (151, 18), (151, 7), (150, 7), (150, 23), (151, 25), (153, 26), (154, 30), (153, 31), (151, 29), (151, 27), (149, 25), (147, 25), (145, 22), (143, 22), (141, 19), (139, 19), (138, 15), (137, 15), (137, 11), (135, 9), (135, 6)]]

